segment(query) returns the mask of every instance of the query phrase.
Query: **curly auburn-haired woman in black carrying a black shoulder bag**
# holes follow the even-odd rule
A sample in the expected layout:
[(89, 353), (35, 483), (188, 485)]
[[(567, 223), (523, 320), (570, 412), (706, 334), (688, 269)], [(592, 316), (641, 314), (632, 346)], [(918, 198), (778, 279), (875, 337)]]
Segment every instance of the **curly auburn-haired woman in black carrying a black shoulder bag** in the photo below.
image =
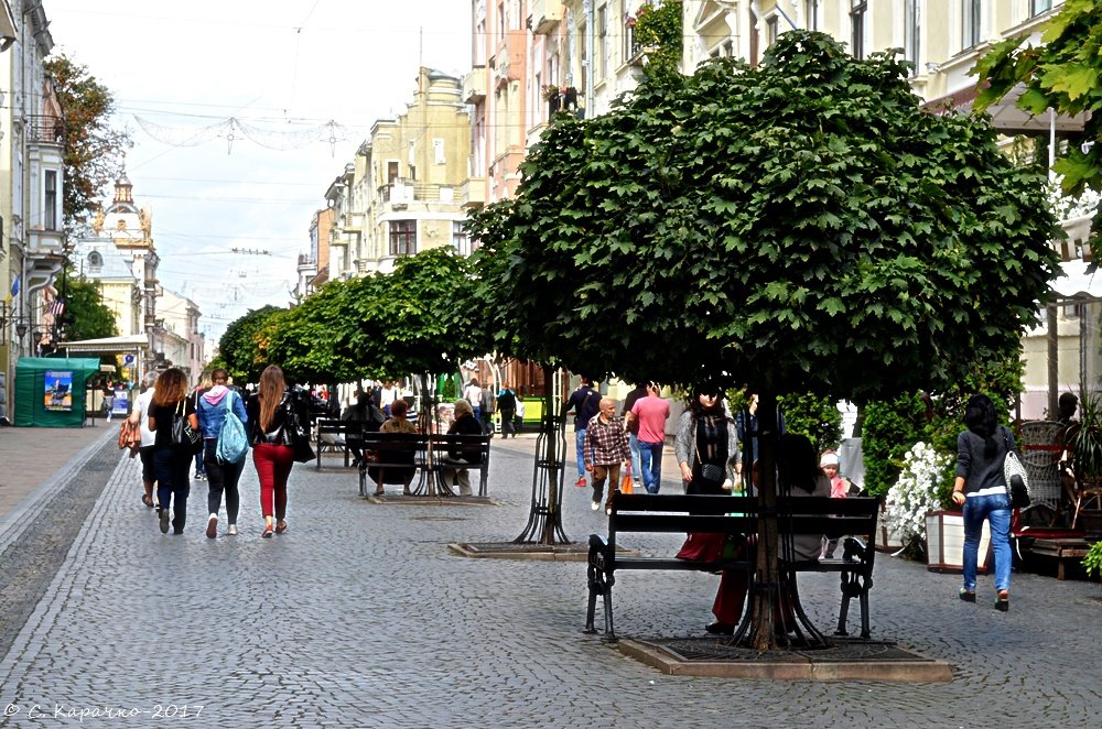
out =
[(169, 508), (172, 508), (172, 533), (183, 534), (187, 520), (187, 496), (191, 492), (188, 471), (192, 454), (186, 446), (172, 443), (172, 423), (184, 417), (194, 429), (199, 421), (187, 398), (187, 378), (182, 370), (170, 367), (156, 379), (153, 401), (149, 406), (149, 429), (153, 439), (153, 470), (156, 474), (156, 496), (161, 533), (169, 533)]

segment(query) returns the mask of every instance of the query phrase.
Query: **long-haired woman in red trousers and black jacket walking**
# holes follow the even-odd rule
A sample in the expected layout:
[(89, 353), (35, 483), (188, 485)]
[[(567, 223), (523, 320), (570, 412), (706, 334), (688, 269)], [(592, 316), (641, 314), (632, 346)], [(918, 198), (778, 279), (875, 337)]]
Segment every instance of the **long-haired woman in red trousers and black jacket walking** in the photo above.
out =
[(309, 422), (309, 412), (288, 391), (283, 370), (274, 364), (260, 374), (257, 394), (246, 411), (251, 423), (252, 463), (260, 478), (260, 512), (264, 518), (260, 536), (268, 538), (273, 532), (287, 531), (287, 479), (294, 465), (292, 421)]

